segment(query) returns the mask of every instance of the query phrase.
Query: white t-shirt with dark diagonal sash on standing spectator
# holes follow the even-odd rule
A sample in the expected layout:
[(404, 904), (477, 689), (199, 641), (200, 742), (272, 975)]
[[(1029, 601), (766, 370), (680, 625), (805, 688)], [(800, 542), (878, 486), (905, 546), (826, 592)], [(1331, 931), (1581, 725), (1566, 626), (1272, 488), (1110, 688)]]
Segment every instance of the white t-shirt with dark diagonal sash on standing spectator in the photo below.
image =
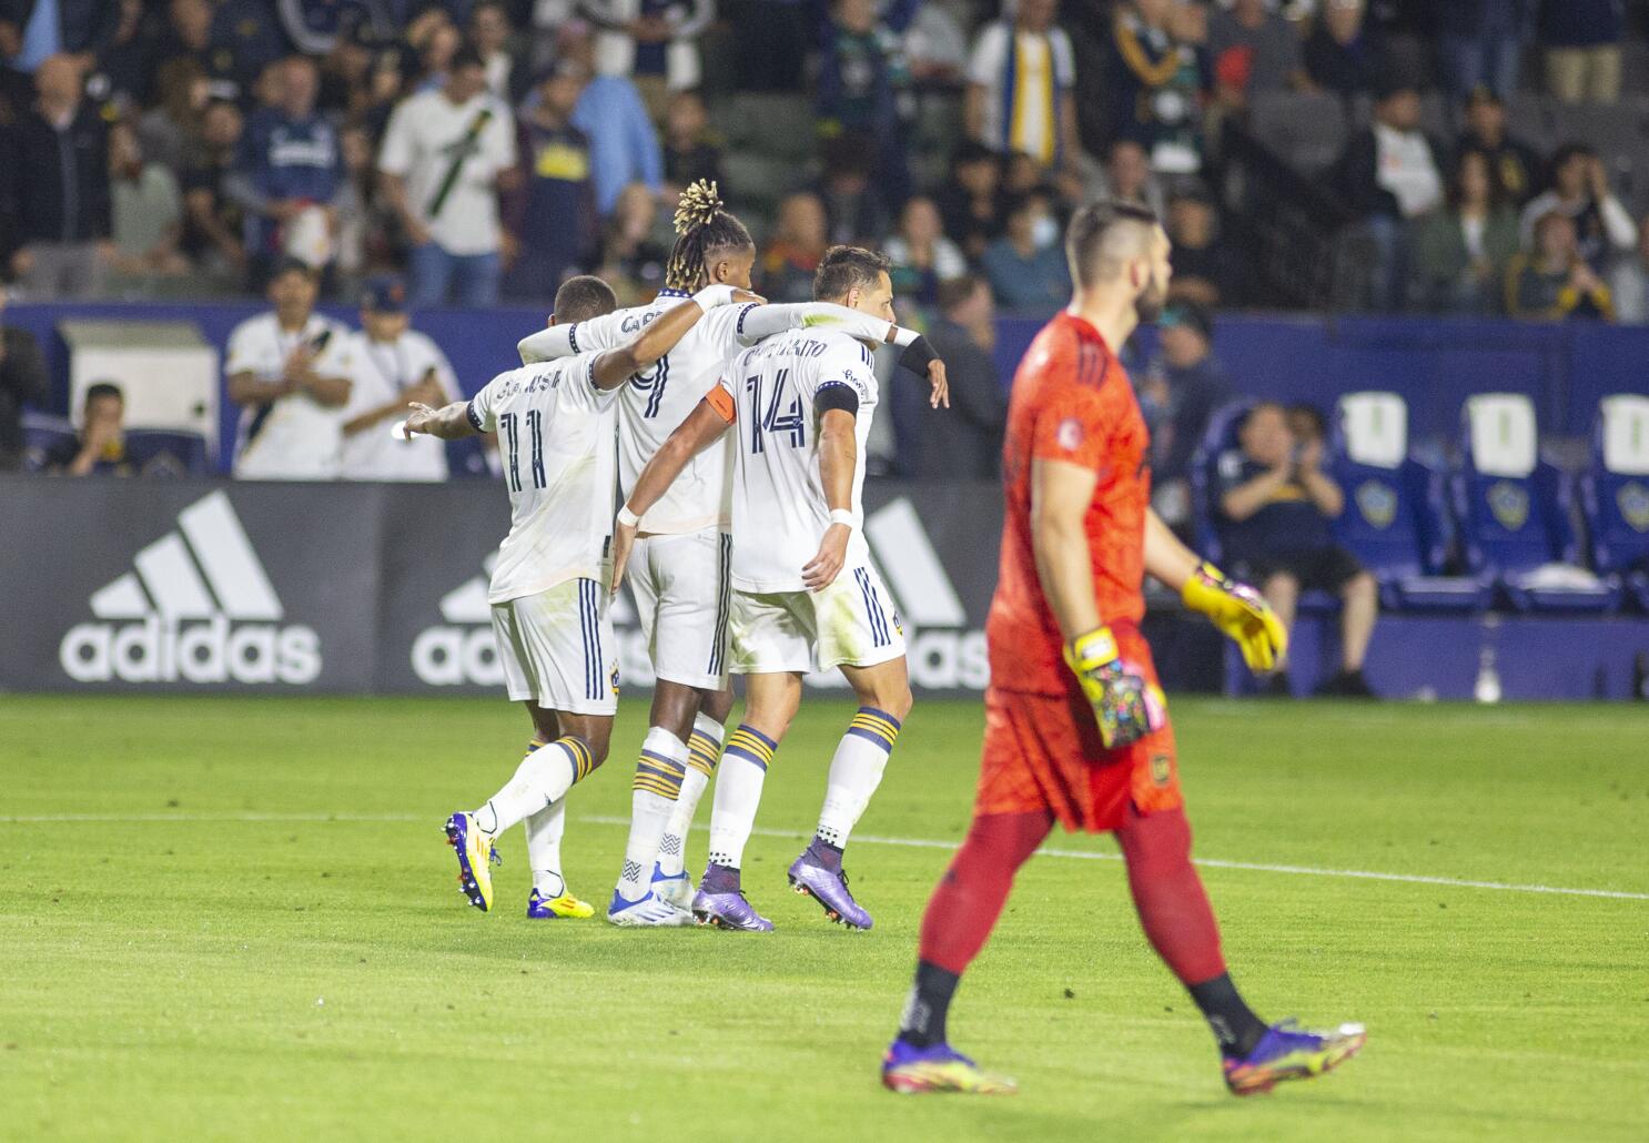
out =
[[(430, 206), (462, 155), (437, 214)], [(409, 96), (389, 115), (378, 168), (406, 180), (407, 205), (449, 254), (498, 249), (498, 172), (514, 167), (514, 119), (491, 92), (453, 104), (439, 91)]]

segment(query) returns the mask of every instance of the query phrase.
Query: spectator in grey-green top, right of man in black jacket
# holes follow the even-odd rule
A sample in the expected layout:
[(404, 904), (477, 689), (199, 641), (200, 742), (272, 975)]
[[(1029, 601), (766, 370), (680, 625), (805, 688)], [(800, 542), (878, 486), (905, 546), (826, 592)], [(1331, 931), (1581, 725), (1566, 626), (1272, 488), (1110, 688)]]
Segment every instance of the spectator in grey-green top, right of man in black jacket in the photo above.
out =
[(1468, 150), (1454, 168), (1448, 208), (1420, 221), (1416, 294), (1441, 313), (1492, 313), (1517, 246), (1517, 214), (1489, 172), (1489, 157)]

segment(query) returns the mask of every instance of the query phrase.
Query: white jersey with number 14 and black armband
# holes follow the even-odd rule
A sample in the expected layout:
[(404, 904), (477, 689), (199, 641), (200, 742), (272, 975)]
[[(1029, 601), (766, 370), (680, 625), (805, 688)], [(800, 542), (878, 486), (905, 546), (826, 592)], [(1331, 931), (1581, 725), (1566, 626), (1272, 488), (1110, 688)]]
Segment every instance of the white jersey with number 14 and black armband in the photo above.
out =
[[(829, 528), (820, 473), (821, 389), (848, 386), (859, 399), (854, 435), (853, 515), (864, 523), (864, 457), (877, 388), (871, 351), (836, 332), (770, 336), (745, 350), (721, 381), (735, 419), (732, 470), (732, 584), (744, 592), (800, 592), (801, 569)], [(869, 559), (862, 528), (848, 541), (848, 562)]]

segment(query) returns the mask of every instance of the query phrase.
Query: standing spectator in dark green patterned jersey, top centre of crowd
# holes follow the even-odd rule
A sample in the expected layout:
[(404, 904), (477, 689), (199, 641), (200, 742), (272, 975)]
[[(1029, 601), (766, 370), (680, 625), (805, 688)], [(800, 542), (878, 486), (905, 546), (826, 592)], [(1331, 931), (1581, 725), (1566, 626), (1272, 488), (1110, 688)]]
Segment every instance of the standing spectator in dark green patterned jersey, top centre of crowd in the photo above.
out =
[(877, 20), (872, 0), (834, 0), (820, 69), (818, 130), (826, 139), (848, 134), (867, 140), (872, 175), (894, 206), (910, 193), (902, 122), (909, 84), (899, 36)]

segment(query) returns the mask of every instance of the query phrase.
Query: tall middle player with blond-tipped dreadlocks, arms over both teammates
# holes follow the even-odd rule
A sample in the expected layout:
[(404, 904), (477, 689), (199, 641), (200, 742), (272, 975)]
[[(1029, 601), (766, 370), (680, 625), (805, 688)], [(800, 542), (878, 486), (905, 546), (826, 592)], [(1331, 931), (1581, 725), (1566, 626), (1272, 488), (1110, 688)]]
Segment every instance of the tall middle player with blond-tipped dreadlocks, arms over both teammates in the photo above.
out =
[[(618, 345), (679, 299), (706, 285), (750, 289), (755, 242), (716, 193), (698, 181), (676, 208), (676, 246), (665, 289), (648, 305), (577, 323), (557, 323), (521, 340), (523, 361)], [(666, 356), (618, 394), (618, 480), (635, 488), (641, 467), (693, 412), (744, 346), (772, 333), (834, 328), (849, 336), (905, 345), (943, 386), (943, 366), (928, 363), (927, 341), (887, 315), (841, 305), (742, 305), (706, 317)], [(915, 346), (915, 348), (909, 348)], [(854, 353), (857, 360), (857, 351)], [(731, 442), (729, 442), (731, 444)], [(630, 795), (630, 838), (607, 919), (618, 925), (674, 924), (693, 902), (684, 869), (686, 836), (722, 749), (732, 709), (727, 689), (729, 447), (696, 457), (646, 511), (630, 587), (658, 678), (648, 732)]]

